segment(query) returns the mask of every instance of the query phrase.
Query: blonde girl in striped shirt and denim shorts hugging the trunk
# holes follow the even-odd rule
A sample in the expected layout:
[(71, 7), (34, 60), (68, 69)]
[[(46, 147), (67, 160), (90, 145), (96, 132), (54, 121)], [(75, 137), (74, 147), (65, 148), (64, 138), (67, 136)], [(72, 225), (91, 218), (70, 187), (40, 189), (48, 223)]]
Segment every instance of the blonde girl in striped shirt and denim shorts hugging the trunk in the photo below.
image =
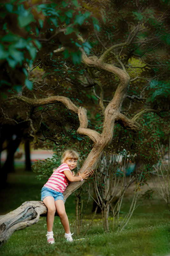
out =
[(62, 155), (61, 165), (54, 169), (53, 174), (48, 179), (47, 183), (43, 186), (41, 190), (41, 201), (46, 205), (48, 212), (46, 217), (47, 223), (47, 242), (49, 244), (55, 243), (53, 238), (53, 222), (55, 211), (57, 211), (61, 223), (65, 230), (65, 238), (67, 241), (73, 241), (68, 217), (65, 211), (63, 192), (65, 191), (68, 183), (71, 182), (81, 182), (83, 179), (87, 179), (89, 174), (92, 172), (85, 171), (80, 175), (78, 172), (78, 177), (73, 176), (73, 169), (77, 165), (77, 160), (79, 159), (79, 154), (74, 150), (66, 150)]

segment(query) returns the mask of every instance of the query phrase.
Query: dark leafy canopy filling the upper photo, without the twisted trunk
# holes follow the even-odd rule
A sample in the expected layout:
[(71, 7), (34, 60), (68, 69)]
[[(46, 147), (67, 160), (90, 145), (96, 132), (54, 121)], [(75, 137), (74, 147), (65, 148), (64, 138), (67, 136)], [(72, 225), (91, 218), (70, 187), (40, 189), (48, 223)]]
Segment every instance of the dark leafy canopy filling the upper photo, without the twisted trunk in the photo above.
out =
[[(158, 113), (156, 121), (150, 114), (141, 118), (141, 131), (135, 136), (122, 129), (118, 153), (128, 145), (129, 161), (140, 159), (146, 169), (151, 170), (158, 160), (156, 143), (159, 139), (165, 142), (169, 132), (169, 126), (161, 122), (160, 117), (168, 117), (170, 102), (169, 3), (157, 1), (157, 8), (152, 4), (153, 1), (95, 0), (90, 3), (81, 0), (3, 3), (0, 18), (2, 95), (11, 96), (16, 93), (14, 90), (21, 92), (25, 85), (22, 94), (28, 98), (68, 97), (77, 107), (87, 109), (89, 128), (102, 133), (103, 113), (96, 96), (101, 91), (94, 80), (102, 84), (106, 107), (115, 95), (119, 79), (110, 72), (100, 72), (99, 67), (89, 68), (81, 63), (81, 49), (87, 57), (100, 58), (106, 49), (127, 42), (124, 47), (110, 51), (105, 59), (116, 68), (122, 68), (120, 63), (124, 65), (131, 78), (127, 92), (131, 98), (121, 103), (122, 113), (132, 118), (141, 110), (152, 108), (162, 111), (163, 115)], [(79, 40), (79, 34), (84, 41)], [(65, 50), (60, 52), (62, 47)], [(31, 109), (22, 103), (17, 108), (17, 114), (12, 115), (9, 104), (4, 102), (2, 106), (4, 113), (9, 109), (11, 119), (32, 118), (31, 136), (37, 129), (36, 134), (42, 140), (51, 139), (58, 146), (76, 144), (89, 152), (92, 145), (89, 138), (76, 134), (78, 117), (68, 113), (61, 103)], [(114, 136), (116, 141), (119, 135), (115, 132)], [(42, 147), (43, 143), (38, 146)], [(47, 162), (50, 165), (50, 161)]]

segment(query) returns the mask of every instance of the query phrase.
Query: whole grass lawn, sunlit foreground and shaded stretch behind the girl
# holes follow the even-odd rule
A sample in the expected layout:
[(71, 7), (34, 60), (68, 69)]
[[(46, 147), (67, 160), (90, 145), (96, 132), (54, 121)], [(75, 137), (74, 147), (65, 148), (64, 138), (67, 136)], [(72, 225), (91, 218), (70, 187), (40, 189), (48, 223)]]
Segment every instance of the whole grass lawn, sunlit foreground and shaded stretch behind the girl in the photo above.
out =
[[(18, 171), (9, 175), (9, 185), (1, 192), (1, 214), (19, 207), (26, 200), (40, 200), (40, 190), (44, 181), (35, 179), (32, 172)], [(130, 195), (124, 200), (120, 220), (128, 210)], [(85, 214), (81, 232), (83, 233), (92, 217), (89, 206)], [(74, 195), (66, 201), (66, 212), (74, 231)], [(122, 232), (104, 232), (101, 214), (97, 214), (90, 227), (86, 239), (67, 243), (63, 236), (64, 230), (60, 218), (55, 217), (54, 237), (56, 243), (46, 243), (46, 218), (40, 217), (39, 222), (24, 230), (16, 231), (2, 249), (1, 256), (37, 256), (62, 255), (72, 256), (165, 256), (170, 254), (170, 213), (166, 204), (154, 195), (152, 200), (138, 200), (138, 207), (130, 222)], [(110, 213), (110, 228), (112, 215)], [(81, 238), (82, 234), (73, 238)]]

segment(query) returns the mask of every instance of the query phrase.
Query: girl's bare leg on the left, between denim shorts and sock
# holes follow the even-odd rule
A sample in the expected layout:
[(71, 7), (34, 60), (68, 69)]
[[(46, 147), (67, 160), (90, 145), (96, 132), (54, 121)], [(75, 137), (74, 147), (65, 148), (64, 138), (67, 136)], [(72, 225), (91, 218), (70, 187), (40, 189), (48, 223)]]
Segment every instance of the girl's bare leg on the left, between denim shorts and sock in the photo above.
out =
[(55, 202), (52, 196), (47, 196), (44, 198), (43, 203), (48, 209), (46, 216), (46, 224), (48, 232), (53, 231), (54, 215), (55, 215)]

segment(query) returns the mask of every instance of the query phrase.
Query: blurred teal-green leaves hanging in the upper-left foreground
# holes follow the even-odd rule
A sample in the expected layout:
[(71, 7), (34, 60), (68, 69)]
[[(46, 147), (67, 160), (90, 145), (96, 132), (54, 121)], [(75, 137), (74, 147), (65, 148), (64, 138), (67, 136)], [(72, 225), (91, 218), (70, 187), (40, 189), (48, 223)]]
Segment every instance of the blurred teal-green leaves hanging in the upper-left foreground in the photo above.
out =
[[(68, 10), (69, 4), (69, 10)], [(18, 73), (17, 84), (24, 85), (25, 77), (19, 75), (20, 68), (28, 64), (32, 66), (36, 58), (40, 55), (48, 55), (62, 44), (68, 50), (65, 58), (72, 57), (74, 64), (81, 63), (81, 52), (79, 47), (84, 47), (89, 53), (91, 46), (86, 42), (84, 45), (77, 41), (76, 33), (81, 32), (87, 34), (89, 26), (99, 26), (98, 19), (101, 17), (97, 13), (97, 18), (94, 20), (93, 12), (84, 11), (83, 2), (78, 3), (64, 1), (11, 1), (10, 3), (1, 4), (1, 46), (0, 60), (1, 66), (5, 66), (10, 72)], [(56, 31), (60, 28), (65, 29), (59, 35)], [(51, 40), (48, 40), (49, 37)], [(55, 46), (51, 49), (46, 48), (46, 42), (50, 44), (55, 42)], [(48, 49), (49, 48), (49, 49)], [(7, 63), (6, 63), (7, 62)], [(13, 70), (11, 70), (11, 69)], [(15, 79), (4, 76), (3, 80), (11, 84), (11, 87), (16, 85)], [(26, 80), (27, 81), (27, 80)], [(5, 86), (5, 84), (3, 84)], [(32, 90), (32, 85), (28, 82), (26, 87)]]

